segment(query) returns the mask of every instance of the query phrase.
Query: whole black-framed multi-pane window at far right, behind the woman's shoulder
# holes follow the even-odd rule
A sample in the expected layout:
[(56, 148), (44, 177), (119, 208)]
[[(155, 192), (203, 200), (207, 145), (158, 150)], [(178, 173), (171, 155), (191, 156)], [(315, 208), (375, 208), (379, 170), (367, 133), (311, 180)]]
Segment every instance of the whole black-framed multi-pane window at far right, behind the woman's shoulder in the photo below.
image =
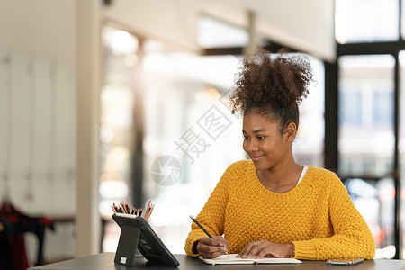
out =
[[(370, 202), (368, 211), (380, 215), (383, 208), (383, 216), (374, 221), (366, 219), (377, 243), (376, 258), (405, 256), (402, 244), (405, 227), (400, 226), (405, 214), (404, 200), (397, 204), (400, 196), (405, 198), (400, 190), (405, 183), (402, 142), (405, 107), (403, 86), (399, 84), (404, 62), (400, 49), (405, 45), (403, 4), (400, 0), (336, 1), (339, 74), (336, 166), (343, 178), (363, 181), (362, 186), (370, 192), (366, 199)], [(366, 185), (374, 187), (375, 196)], [(352, 197), (354, 202), (357, 199), (356, 195)], [(365, 208), (360, 211), (367, 215)], [(379, 220), (378, 225), (375, 220)]]

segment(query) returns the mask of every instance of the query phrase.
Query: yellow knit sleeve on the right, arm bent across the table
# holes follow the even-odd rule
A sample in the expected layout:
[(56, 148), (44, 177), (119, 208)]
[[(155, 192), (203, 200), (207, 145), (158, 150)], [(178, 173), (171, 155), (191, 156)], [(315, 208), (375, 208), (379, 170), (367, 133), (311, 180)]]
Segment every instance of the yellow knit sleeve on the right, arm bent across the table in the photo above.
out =
[(309, 260), (326, 260), (333, 257), (373, 259), (373, 235), (338, 176), (333, 174), (328, 189), (329, 219), (334, 235), (330, 238), (294, 241), (295, 257)]

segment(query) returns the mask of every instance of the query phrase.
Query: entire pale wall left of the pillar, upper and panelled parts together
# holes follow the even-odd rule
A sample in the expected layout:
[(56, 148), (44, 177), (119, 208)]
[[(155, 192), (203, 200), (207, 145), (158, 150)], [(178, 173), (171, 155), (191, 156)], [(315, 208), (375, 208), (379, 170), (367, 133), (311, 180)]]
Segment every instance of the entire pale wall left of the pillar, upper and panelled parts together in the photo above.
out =
[[(75, 1), (0, 2), (0, 202), (28, 215), (76, 213), (75, 35)], [(73, 257), (73, 234), (48, 230), (45, 258)]]

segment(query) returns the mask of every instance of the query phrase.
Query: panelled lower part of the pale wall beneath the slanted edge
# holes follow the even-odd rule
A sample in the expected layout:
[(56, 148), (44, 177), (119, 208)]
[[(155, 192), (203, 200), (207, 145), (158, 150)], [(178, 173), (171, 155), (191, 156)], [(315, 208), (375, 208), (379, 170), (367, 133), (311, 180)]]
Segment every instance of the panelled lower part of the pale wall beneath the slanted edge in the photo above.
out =
[(72, 70), (1, 47), (0, 59), (0, 198), (8, 196), (31, 214), (72, 215), (76, 204)]

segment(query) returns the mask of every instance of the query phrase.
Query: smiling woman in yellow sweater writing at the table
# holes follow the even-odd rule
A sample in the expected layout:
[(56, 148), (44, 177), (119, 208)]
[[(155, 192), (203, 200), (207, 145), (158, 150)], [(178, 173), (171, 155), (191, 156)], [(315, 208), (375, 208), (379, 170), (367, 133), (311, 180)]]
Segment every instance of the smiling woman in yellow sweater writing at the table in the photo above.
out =
[(338, 176), (294, 161), (298, 104), (311, 76), (306, 58), (284, 52), (270, 57), (261, 49), (244, 59), (231, 105), (244, 116), (243, 149), (251, 161), (222, 175), (196, 218), (215, 237), (193, 224), (187, 255), (374, 257), (374, 238)]

